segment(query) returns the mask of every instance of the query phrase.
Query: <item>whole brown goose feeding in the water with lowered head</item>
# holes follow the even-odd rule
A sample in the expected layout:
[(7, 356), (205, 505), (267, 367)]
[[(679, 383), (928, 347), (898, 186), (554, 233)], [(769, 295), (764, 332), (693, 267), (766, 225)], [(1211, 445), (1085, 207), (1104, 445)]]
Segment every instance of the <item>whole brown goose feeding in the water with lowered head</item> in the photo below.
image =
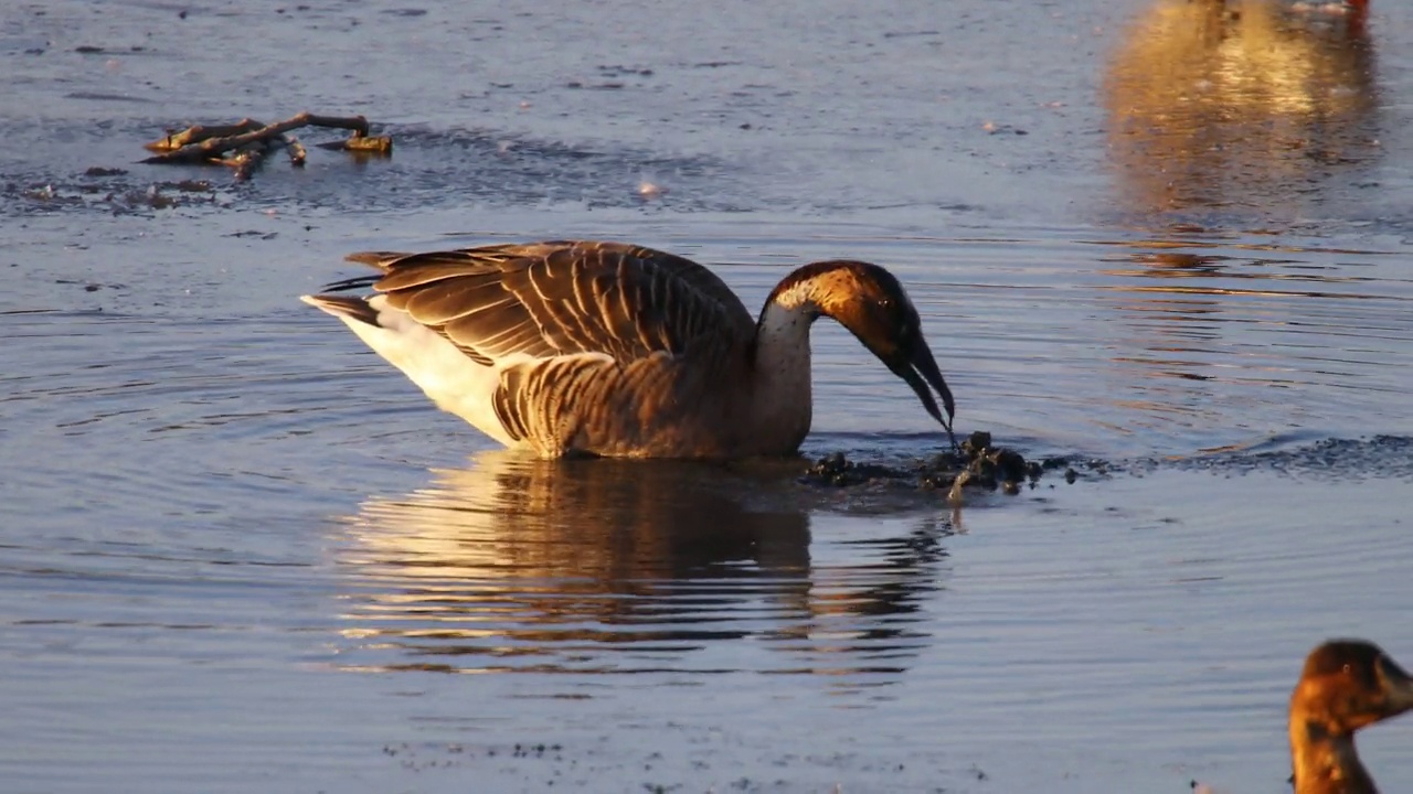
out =
[(302, 300), (507, 446), (551, 458), (794, 452), (810, 432), (810, 326), (821, 315), (852, 331), (952, 432), (952, 394), (917, 309), (876, 264), (800, 267), (756, 321), (705, 267), (623, 243), (348, 259), (382, 274), (326, 290), (374, 295)]

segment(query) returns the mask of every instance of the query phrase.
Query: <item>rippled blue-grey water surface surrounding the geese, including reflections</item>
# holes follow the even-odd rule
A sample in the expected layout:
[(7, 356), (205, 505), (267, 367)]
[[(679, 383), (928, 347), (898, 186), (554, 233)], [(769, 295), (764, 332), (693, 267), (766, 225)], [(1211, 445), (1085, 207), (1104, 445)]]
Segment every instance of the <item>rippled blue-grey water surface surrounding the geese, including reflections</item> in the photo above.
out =
[[(7, 6), (7, 790), (1284, 790), (1303, 654), (1413, 658), (1410, 31)], [(134, 164), (301, 109), (394, 157)], [(526, 461), (295, 300), (350, 250), (548, 236), (694, 256), (749, 305), (885, 263), (961, 431), (1104, 465), (954, 511), (791, 461)], [(815, 345), (807, 455), (938, 448), (846, 332)], [(1361, 739), (1386, 790), (1409, 730)]]

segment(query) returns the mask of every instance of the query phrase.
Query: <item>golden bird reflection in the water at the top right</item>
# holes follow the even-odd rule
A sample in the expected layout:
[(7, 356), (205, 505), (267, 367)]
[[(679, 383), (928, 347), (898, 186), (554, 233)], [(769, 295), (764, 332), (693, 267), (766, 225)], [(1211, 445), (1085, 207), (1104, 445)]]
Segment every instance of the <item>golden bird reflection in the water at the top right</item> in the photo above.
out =
[[(1123, 206), (1275, 219), (1382, 154), (1364, 3), (1160, 0), (1104, 81)], [(1351, 203), (1368, 202), (1366, 195)]]

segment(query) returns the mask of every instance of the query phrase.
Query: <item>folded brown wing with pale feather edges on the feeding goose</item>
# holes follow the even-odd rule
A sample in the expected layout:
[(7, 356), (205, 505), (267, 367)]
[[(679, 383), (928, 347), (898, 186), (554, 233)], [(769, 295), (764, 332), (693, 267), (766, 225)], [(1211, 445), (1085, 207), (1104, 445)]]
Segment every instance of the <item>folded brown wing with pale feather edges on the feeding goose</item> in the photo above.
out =
[(372, 287), (486, 366), (582, 353), (622, 363), (755, 329), (712, 271), (642, 246), (567, 240), (349, 259), (382, 275), (331, 290)]

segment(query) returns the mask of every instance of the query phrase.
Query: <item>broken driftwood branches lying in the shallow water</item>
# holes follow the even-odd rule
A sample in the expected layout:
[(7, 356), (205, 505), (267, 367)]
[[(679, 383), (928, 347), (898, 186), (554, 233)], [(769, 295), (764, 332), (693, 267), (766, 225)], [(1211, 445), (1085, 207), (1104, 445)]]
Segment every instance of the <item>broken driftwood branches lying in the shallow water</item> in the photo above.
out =
[(305, 112), (274, 124), (242, 119), (235, 124), (211, 127), (198, 124), (181, 131), (170, 130), (165, 137), (144, 144), (144, 148), (158, 154), (143, 160), (143, 162), (216, 162), (235, 168), (236, 179), (249, 179), (266, 155), (283, 148), (290, 155), (290, 165), (300, 168), (308, 153), (298, 138), (288, 134), (290, 130), (300, 127), (352, 130), (346, 140), (318, 144), (322, 148), (382, 157), (393, 153), (393, 138), (390, 136), (370, 136), (367, 119), (363, 116), (315, 116)]

